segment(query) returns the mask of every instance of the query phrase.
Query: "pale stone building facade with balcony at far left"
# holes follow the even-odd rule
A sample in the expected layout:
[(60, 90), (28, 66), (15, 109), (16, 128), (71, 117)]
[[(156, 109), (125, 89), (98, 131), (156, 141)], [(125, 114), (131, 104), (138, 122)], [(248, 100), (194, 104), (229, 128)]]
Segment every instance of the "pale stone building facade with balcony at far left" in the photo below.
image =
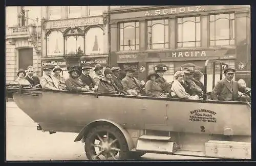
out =
[(41, 75), (41, 7), (6, 7), (6, 83), (30, 65)]

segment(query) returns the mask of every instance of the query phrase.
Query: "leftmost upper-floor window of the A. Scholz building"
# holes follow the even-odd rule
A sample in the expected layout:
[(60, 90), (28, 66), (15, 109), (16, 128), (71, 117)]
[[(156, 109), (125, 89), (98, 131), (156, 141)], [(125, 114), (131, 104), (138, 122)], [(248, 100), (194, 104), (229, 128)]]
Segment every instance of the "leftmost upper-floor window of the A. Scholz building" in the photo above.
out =
[(119, 50), (139, 49), (139, 22), (119, 23)]

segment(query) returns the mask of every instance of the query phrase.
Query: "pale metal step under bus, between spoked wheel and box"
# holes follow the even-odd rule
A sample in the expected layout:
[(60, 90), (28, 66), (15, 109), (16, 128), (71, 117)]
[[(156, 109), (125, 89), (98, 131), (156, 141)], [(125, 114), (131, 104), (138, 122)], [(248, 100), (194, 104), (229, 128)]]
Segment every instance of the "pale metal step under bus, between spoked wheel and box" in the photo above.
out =
[(142, 135), (137, 140), (137, 151), (174, 153), (179, 146), (171, 142), (171, 136)]

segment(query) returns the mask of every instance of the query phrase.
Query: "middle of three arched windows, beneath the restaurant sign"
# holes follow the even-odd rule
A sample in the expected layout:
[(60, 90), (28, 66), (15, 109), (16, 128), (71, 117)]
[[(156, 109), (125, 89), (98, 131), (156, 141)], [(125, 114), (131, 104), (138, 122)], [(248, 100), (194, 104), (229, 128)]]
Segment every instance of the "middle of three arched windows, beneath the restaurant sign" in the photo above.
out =
[[(71, 29), (65, 33), (65, 54), (83, 54), (84, 36), (78, 29)], [(80, 48), (79, 48), (80, 47)]]

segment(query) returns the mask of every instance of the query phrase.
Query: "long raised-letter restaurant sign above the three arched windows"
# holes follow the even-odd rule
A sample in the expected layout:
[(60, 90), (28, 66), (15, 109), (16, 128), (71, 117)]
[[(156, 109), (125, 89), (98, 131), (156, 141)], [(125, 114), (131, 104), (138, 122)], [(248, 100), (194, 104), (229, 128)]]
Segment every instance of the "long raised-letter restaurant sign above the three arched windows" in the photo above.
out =
[(75, 18), (48, 21), (46, 23), (46, 29), (56, 29), (60, 27), (75, 27), (75, 26), (88, 26), (103, 24), (103, 17), (87, 17), (87, 18)]

